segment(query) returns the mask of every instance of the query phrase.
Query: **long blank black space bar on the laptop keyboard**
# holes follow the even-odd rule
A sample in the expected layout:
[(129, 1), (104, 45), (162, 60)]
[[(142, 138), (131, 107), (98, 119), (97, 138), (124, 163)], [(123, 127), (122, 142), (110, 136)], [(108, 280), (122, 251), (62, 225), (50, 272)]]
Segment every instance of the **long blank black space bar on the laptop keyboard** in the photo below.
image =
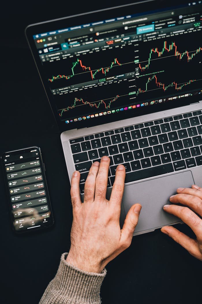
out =
[(156, 167), (152, 167), (152, 168), (147, 168), (144, 170), (129, 172), (126, 174), (125, 183), (129, 183), (131, 181), (139, 181), (144, 178), (150, 178), (153, 176), (166, 174), (166, 173), (170, 173), (173, 171), (174, 171), (173, 165), (170, 163), (170, 164), (164, 164), (164, 165), (156, 166)]

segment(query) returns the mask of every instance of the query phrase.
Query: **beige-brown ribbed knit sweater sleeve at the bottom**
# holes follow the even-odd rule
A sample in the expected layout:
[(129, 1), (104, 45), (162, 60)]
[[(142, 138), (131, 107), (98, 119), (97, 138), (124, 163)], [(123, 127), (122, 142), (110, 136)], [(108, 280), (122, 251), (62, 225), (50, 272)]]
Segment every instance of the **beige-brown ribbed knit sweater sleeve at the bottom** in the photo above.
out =
[(39, 304), (100, 304), (100, 288), (107, 273), (80, 270), (66, 262), (67, 253), (61, 255), (55, 278), (48, 284)]

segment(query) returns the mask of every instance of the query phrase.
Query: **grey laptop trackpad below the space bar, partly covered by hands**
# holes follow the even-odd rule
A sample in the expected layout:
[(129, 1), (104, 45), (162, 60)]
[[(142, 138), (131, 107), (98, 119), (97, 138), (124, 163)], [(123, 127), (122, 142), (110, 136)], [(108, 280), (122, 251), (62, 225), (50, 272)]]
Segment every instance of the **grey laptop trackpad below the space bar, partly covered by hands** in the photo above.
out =
[(179, 222), (180, 219), (165, 212), (163, 206), (171, 204), (169, 198), (176, 194), (177, 188), (190, 188), (193, 184), (191, 171), (185, 171), (125, 186), (123, 196), (125, 213), (127, 214), (135, 203), (142, 205), (135, 232), (144, 233), (143, 230), (154, 230)]

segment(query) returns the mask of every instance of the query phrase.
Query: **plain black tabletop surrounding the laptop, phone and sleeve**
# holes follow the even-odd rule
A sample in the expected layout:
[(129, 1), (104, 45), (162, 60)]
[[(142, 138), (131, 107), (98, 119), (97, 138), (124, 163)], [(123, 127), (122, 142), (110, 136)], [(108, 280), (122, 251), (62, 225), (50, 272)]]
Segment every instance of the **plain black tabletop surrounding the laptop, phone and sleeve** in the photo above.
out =
[[(3, 304), (38, 303), (57, 271), (61, 253), (70, 247), (70, 184), (60, 132), (25, 40), (25, 26), (122, 3), (75, 1), (70, 5), (45, 1), (2, 5), (0, 154), (33, 145), (41, 147), (55, 216), (49, 230), (14, 234), (0, 170)], [(194, 236), (186, 225), (179, 226)], [(201, 262), (160, 230), (134, 237), (130, 248), (110, 262), (107, 270), (101, 287), (104, 304), (194, 303), (201, 299)]]

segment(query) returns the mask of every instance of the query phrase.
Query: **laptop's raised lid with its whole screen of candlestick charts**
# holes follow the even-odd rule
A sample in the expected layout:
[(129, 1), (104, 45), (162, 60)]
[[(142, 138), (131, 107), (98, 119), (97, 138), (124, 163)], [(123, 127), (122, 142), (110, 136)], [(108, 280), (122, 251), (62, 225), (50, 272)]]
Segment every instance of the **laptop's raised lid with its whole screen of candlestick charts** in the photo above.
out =
[(201, 30), (201, 1), (158, 0), (32, 24), (25, 32), (65, 131), (198, 102)]

